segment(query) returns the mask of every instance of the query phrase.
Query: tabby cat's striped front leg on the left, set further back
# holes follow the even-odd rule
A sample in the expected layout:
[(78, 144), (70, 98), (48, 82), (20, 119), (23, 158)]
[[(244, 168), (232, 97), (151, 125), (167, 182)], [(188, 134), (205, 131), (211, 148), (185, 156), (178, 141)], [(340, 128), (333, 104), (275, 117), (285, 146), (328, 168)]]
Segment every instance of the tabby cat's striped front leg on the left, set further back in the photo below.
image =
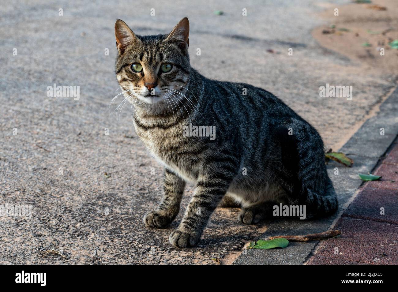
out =
[(169, 169), (164, 169), (164, 195), (155, 211), (144, 216), (149, 227), (164, 228), (176, 218), (185, 188), (185, 181)]

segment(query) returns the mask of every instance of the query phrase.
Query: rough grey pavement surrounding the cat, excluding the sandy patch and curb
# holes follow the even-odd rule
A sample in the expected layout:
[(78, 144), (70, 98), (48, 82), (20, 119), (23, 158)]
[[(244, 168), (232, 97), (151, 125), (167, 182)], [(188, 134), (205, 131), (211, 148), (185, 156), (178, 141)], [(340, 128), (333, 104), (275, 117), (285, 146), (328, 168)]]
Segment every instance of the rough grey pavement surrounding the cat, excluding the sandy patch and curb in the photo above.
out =
[[(363, 72), (360, 64), (312, 39), (312, 29), (324, 23), (316, 16), (324, 9), (321, 4), (332, 2), (349, 3), (3, 1), (0, 205), (31, 205), (33, 214), (29, 220), (0, 217), (0, 263), (215, 263), (212, 258), (240, 251), (265, 230), (322, 230), (324, 221), (244, 226), (236, 219), (238, 209), (218, 209), (197, 248), (175, 249), (168, 234), (178, 226), (182, 211), (165, 230), (142, 224), (142, 216), (161, 198), (162, 168), (136, 137), (131, 107), (123, 108), (120, 119), (108, 109), (118, 93), (115, 19), (126, 21), (137, 34), (157, 34), (188, 16), (193, 67), (210, 78), (271, 91), (310, 121), (327, 147), (335, 147), (395, 86), (396, 76)], [(155, 16), (150, 16), (151, 8)], [(242, 16), (243, 8), (247, 16)], [(224, 14), (217, 16), (215, 10)], [(287, 54), (289, 48), (293, 56)], [(47, 86), (54, 83), (80, 86), (80, 99), (47, 97)], [(353, 99), (319, 97), (319, 87), (326, 83), (353, 86)], [(363, 163), (371, 165), (371, 159)], [(339, 191), (348, 198), (353, 189), (355, 185), (347, 185)], [(192, 192), (189, 185), (181, 210)], [(295, 251), (286, 251), (293, 257), (305, 255), (311, 245), (292, 245)], [(62, 249), (66, 258), (42, 257), (41, 251), (52, 248)]]

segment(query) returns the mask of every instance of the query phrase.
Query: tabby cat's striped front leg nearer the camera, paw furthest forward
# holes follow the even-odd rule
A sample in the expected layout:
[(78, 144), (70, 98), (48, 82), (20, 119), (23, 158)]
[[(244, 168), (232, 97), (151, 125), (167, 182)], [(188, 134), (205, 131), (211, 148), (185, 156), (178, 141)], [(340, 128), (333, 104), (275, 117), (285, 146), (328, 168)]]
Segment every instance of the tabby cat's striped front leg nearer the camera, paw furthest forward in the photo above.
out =
[(230, 179), (214, 177), (197, 183), (178, 229), (170, 234), (170, 243), (176, 247), (194, 247), (200, 240), (209, 218), (225, 195)]

